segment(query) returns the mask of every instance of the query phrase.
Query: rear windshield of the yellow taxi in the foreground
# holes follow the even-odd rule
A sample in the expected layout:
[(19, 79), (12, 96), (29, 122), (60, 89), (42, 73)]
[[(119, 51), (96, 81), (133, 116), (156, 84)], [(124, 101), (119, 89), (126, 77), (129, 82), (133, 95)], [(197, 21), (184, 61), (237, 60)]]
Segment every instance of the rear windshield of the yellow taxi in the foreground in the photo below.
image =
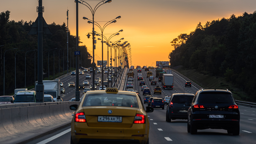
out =
[(139, 107), (136, 96), (127, 94), (87, 94), (82, 106)]

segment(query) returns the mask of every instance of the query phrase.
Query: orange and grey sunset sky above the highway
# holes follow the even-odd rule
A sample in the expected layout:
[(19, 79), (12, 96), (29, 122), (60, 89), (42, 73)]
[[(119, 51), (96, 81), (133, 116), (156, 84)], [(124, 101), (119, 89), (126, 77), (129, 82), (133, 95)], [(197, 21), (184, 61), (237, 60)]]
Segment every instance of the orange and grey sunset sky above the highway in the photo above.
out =
[[(87, 2), (95, 7), (100, 1)], [(11, 20), (35, 21), (37, 6), (37, 0), (1, 0), (0, 12), (11, 11)], [(69, 9), (69, 30), (76, 35), (74, 0), (43, 0), (43, 6), (43, 17), (48, 24), (66, 23), (66, 11)], [(156, 61), (169, 61), (168, 55), (173, 50), (170, 42), (181, 33), (194, 31), (199, 22), (204, 25), (207, 21), (229, 18), (232, 14), (240, 16), (244, 12), (253, 13), (255, 6), (255, 0), (112, 0), (97, 9), (95, 21), (110, 21), (121, 16), (116, 23), (108, 25), (103, 33), (108, 37), (107, 34), (123, 30), (111, 41), (124, 38), (122, 42), (130, 43), (132, 65), (155, 66)], [(82, 17), (92, 19), (92, 14), (86, 6), (79, 4), (79, 37), (82, 45), (92, 50), (92, 39), (85, 36), (92, 32), (92, 24)], [(103, 26), (106, 22), (99, 23)], [(96, 26), (95, 31), (100, 32)], [(103, 60), (107, 60), (107, 46), (103, 46)], [(100, 41), (97, 41), (95, 54), (101, 57)]]

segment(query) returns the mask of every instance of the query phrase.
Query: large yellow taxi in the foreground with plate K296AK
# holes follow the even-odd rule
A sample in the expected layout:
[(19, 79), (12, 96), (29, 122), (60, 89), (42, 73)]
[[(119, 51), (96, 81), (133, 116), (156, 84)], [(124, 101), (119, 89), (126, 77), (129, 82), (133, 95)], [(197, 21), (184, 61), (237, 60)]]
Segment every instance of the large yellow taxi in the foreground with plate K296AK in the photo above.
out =
[(149, 144), (149, 119), (146, 107), (135, 92), (106, 91), (86, 92), (75, 110), (71, 121), (71, 144), (79, 143), (139, 143)]

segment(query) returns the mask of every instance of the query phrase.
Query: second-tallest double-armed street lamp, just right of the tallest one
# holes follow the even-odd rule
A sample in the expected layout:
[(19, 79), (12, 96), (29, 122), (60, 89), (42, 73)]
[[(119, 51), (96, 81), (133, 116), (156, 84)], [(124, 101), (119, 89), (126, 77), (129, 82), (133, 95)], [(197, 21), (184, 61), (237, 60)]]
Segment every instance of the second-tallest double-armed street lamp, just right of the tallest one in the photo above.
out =
[[(116, 17), (115, 19), (117, 19), (117, 18), (121, 18), (121, 16), (118, 16), (118, 17)], [(83, 17), (83, 19), (84, 20), (89, 20), (88, 18), (86, 18), (86, 17)], [(111, 23), (116, 23), (117, 21), (115, 20), (115, 19), (113, 19), (113, 20), (111, 20), (111, 21), (108, 21), (103, 27), (101, 27), (100, 26), (100, 24), (98, 24), (97, 22), (95, 22), (95, 23), (97, 23), (97, 24), (95, 24), (98, 28), (100, 28), (100, 30), (101, 30), (101, 39), (102, 39), (102, 41), (101, 41), (101, 49), (102, 49), (102, 63), (101, 63), (101, 68), (102, 68), (102, 70), (101, 70), (101, 75), (102, 75), (102, 80), (104, 80), (104, 67), (103, 67), (103, 31), (105, 30), (105, 28), (108, 26), (108, 25), (110, 25)], [(91, 20), (90, 21), (88, 21), (88, 23), (92, 23), (91, 22)], [(103, 86), (101, 87), (101, 90), (103, 90)]]

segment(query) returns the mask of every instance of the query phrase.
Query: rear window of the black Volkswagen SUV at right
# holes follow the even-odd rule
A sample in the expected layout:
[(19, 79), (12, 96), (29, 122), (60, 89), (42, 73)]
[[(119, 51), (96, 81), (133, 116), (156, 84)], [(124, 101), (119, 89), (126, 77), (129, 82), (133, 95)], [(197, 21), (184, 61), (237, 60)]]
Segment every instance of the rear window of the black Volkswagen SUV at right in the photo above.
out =
[(202, 92), (199, 94), (200, 103), (234, 103), (234, 98), (229, 92)]

